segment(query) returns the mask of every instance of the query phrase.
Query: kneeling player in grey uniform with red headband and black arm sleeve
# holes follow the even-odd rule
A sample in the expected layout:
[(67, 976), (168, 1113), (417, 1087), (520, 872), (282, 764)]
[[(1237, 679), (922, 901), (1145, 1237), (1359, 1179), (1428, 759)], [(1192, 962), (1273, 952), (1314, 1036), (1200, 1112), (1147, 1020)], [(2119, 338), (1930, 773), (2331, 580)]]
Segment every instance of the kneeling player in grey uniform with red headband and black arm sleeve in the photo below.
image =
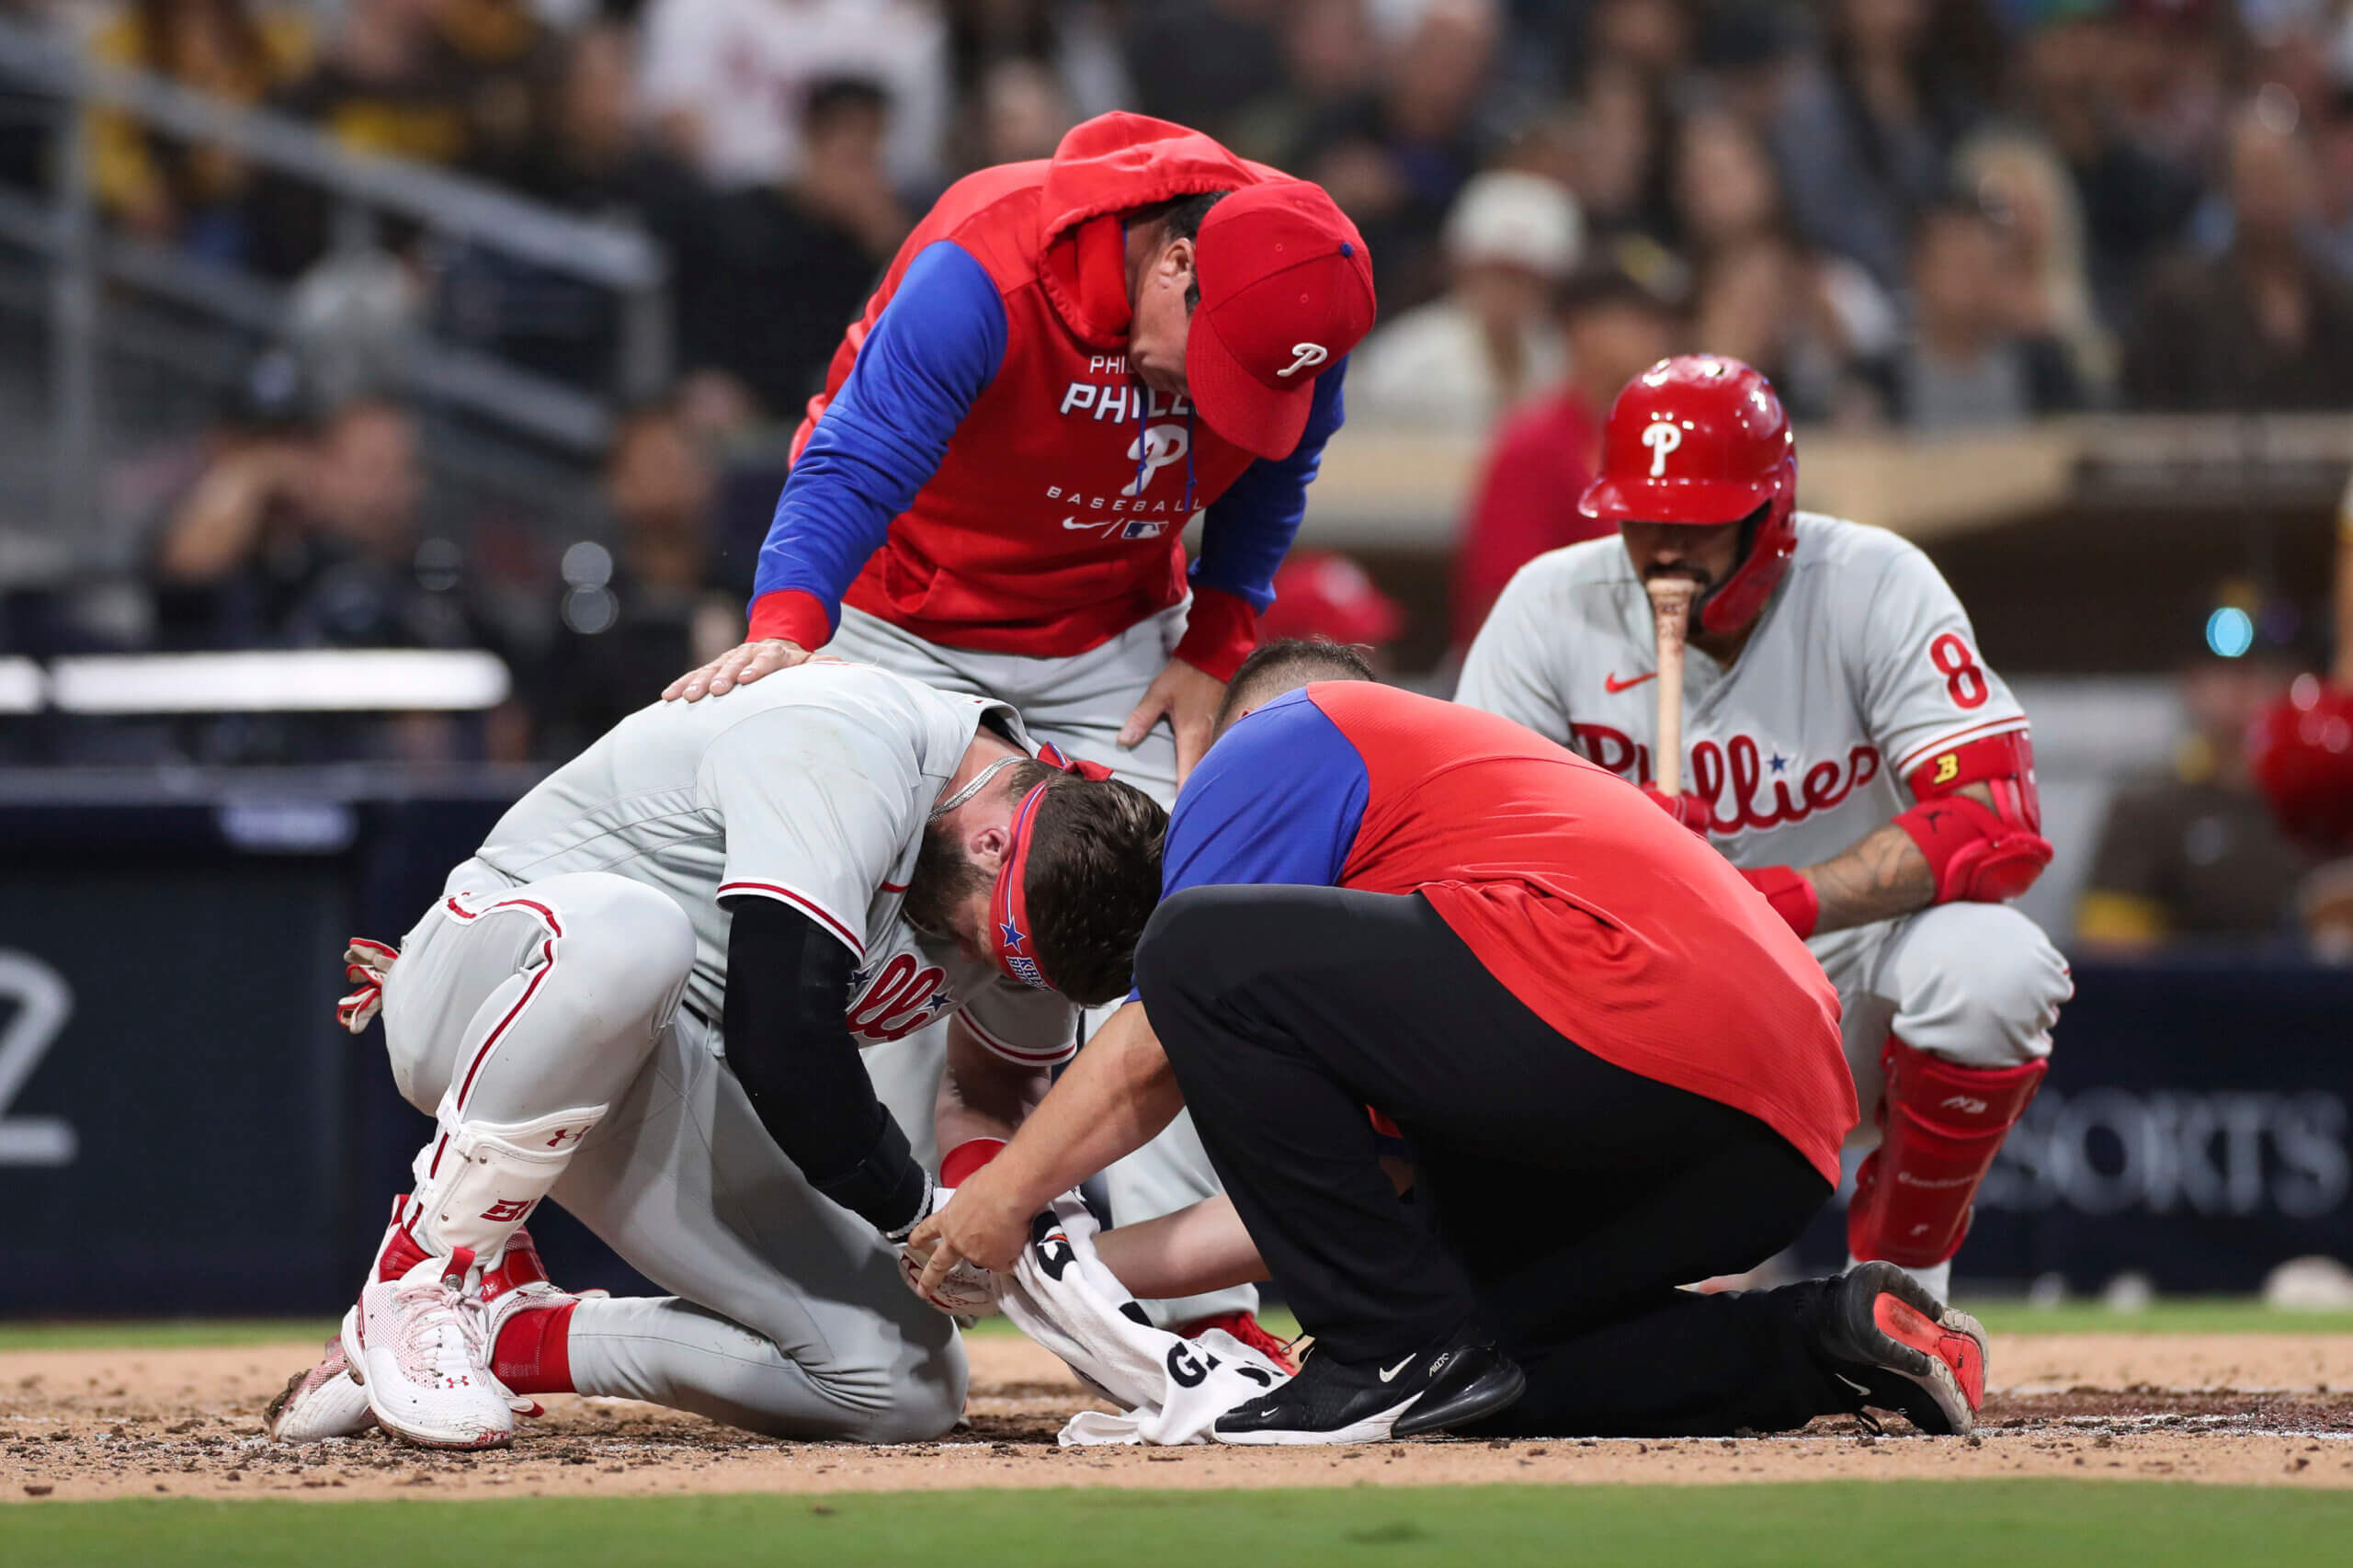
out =
[[(1007, 1137), (1075, 1005), (1125, 994), (1165, 822), (1033, 756), (1009, 706), (871, 666), (621, 720), (398, 954), (353, 944), (346, 1024), (381, 1003), (438, 1125), (271, 1431), (494, 1448), (546, 1391), (802, 1439), (953, 1427), (962, 1347), (899, 1253), (941, 1184), (859, 1048), (951, 1017), (944, 1165)], [(675, 1295), (553, 1288), (520, 1229), (546, 1196)]]

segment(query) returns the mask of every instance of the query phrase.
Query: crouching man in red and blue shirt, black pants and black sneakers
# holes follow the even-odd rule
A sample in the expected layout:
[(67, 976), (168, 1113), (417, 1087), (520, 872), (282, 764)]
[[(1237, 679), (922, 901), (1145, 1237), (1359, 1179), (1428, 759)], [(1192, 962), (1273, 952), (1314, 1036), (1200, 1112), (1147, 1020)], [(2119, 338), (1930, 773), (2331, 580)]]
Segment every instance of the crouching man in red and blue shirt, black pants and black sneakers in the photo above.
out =
[[(1346, 650), (1261, 647), (1226, 702), (1169, 822), (1139, 1001), (915, 1229), (922, 1288), (1012, 1269), (1040, 1208), (1191, 1107), (1247, 1227), (1191, 1250), (1264, 1257), (1315, 1335), (1217, 1441), (1866, 1408), (1972, 1427), (1984, 1330), (1892, 1264), (1678, 1288), (1788, 1245), (1857, 1118), (1838, 998), (1729, 862), (1562, 746)], [(1417, 1203), (1367, 1107), (1412, 1142)]]

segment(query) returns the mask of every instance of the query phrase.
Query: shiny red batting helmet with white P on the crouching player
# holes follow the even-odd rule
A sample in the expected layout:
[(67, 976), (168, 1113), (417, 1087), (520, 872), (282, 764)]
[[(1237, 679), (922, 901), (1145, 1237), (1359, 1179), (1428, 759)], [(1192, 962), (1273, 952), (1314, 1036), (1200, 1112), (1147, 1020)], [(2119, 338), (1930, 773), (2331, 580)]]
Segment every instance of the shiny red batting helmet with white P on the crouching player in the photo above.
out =
[(1739, 360), (1678, 353), (1617, 396), (1602, 471), (1577, 511), (1598, 523), (1758, 523), (1739, 567), (1699, 600), (1706, 631), (1739, 631), (1798, 549), (1798, 438), (1772, 381)]

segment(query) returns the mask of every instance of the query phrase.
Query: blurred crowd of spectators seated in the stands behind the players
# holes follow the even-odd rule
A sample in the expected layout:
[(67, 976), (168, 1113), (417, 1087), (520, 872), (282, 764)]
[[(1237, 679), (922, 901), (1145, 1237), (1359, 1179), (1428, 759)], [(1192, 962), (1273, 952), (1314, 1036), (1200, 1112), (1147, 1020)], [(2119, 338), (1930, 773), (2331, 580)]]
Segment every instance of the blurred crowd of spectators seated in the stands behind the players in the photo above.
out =
[[(1358, 419), (1487, 431), (1569, 384), (1598, 271), (1812, 421), (2353, 396), (2334, 0), (120, 0), (89, 40), (633, 214), (685, 367), (776, 421), (913, 214), (1108, 108), (1348, 210), (1386, 323)], [(120, 118), (94, 148), (136, 233), (287, 275), (327, 242), (219, 148)]]

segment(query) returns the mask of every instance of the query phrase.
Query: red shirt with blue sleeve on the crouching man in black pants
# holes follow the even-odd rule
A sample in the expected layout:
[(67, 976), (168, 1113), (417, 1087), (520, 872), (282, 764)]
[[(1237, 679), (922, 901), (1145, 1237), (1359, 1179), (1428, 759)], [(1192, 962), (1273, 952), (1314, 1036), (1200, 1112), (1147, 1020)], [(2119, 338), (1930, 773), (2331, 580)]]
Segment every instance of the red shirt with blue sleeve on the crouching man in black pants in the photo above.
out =
[(1508, 718), (1369, 680), (1285, 692), (1186, 779), (1162, 876), (1162, 897), (1419, 892), (1562, 1036), (1755, 1116), (1838, 1182), (1857, 1104), (1821, 965), (1642, 791)]

